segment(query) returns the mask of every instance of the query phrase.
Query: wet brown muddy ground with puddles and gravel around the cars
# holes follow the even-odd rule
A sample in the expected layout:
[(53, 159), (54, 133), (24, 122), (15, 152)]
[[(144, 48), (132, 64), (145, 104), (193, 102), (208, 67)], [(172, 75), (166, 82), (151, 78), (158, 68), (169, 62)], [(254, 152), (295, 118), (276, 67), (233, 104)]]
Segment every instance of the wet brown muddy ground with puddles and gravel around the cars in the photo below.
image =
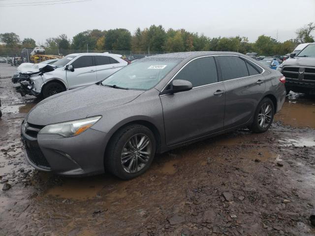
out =
[(172, 150), (129, 181), (35, 171), (19, 133), (39, 100), (10, 79), (0, 98), (0, 189), (11, 185), (0, 190), (1, 236), (315, 235), (315, 98), (290, 93), (268, 132)]

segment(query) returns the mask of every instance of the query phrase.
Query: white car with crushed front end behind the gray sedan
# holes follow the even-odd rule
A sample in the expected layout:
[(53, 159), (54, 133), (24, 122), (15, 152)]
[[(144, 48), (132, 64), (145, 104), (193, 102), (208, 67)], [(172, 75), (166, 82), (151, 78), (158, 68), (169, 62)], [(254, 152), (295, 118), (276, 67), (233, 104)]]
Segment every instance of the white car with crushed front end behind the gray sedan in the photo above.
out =
[[(116, 54), (76, 53), (57, 60), (52, 65), (29, 71), (21, 68), (27, 81), (20, 82), (22, 96), (31, 94), (47, 98), (68, 89), (75, 89), (102, 81), (125, 67), (128, 62)], [(39, 64), (38, 64), (39, 65)]]

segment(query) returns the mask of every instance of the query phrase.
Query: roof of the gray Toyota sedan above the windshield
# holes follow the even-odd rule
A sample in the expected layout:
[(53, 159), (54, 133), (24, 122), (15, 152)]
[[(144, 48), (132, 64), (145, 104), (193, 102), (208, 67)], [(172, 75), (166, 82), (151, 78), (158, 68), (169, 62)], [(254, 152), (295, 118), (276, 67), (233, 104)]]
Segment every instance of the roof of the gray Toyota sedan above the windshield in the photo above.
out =
[(237, 55), (242, 57), (247, 57), (241, 53), (235, 52), (213, 52), (213, 51), (199, 51), (199, 52), (183, 52), (183, 53), (166, 53), (157, 54), (147, 58), (174, 58), (174, 59), (194, 59), (202, 56), (213, 56), (213, 55)]

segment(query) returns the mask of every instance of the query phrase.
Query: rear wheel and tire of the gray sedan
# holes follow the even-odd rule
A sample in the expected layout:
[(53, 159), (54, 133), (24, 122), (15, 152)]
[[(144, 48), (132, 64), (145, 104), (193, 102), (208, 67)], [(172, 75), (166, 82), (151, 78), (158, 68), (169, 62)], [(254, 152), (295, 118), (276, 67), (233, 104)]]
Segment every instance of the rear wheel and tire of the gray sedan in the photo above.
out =
[[(266, 112), (267, 111), (267, 112)], [(254, 120), (252, 123), (251, 130), (254, 133), (266, 132), (275, 115), (275, 106), (270, 98), (265, 97), (262, 99), (255, 111)]]

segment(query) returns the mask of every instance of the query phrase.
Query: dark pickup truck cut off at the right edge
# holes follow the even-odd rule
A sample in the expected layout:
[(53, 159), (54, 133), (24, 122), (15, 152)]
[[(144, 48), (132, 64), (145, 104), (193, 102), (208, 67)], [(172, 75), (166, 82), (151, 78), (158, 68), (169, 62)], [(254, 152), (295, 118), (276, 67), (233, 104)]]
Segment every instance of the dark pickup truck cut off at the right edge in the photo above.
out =
[(287, 78), (287, 93), (315, 94), (315, 43), (309, 43), (297, 56), (291, 54), (278, 70)]

